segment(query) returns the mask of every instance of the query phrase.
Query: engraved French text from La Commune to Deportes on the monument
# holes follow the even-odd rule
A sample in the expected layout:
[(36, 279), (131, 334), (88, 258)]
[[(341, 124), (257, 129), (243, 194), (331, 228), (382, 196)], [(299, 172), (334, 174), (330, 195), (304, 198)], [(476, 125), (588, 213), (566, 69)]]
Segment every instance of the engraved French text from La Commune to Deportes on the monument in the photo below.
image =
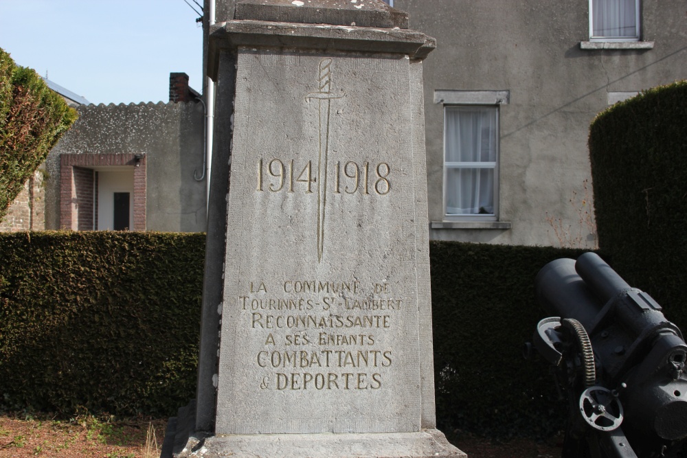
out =
[(249, 282), (238, 296), (251, 335), (260, 390), (384, 389), (396, 361), (387, 332), (403, 299), (386, 282), (320, 279)]

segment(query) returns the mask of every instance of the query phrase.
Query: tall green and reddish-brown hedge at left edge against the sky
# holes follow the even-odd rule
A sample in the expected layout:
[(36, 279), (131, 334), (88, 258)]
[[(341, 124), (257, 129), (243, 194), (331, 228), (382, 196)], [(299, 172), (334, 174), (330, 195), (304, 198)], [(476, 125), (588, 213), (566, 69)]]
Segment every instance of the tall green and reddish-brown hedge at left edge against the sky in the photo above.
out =
[(0, 220), (78, 114), (0, 49)]

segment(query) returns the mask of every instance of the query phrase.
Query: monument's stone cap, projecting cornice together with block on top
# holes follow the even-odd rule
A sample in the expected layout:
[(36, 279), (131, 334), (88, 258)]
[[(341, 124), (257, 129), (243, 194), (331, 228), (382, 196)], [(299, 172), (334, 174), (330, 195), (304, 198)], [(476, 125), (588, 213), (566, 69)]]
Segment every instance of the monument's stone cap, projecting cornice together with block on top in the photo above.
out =
[(207, 76), (239, 47), (405, 54), (424, 59), (436, 40), (409, 30), (408, 14), (381, 0), (238, 0), (235, 18), (210, 27)]

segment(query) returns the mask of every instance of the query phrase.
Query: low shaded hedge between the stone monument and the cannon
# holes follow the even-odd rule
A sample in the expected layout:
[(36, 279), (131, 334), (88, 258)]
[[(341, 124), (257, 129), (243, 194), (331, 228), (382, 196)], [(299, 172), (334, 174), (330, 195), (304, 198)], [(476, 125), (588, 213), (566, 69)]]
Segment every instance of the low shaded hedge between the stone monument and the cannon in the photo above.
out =
[(534, 277), (560, 257), (583, 251), (553, 247), (431, 242), (431, 290), (437, 419), (490, 437), (560, 431), (550, 365), (524, 360), (539, 320)]

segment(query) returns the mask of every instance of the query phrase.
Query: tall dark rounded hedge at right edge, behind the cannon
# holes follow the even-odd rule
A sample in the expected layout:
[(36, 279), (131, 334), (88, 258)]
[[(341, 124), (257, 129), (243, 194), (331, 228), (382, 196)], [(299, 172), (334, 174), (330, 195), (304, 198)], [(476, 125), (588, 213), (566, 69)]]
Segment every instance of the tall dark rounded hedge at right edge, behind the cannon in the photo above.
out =
[(600, 113), (589, 130), (600, 249), (683, 330), (687, 270), (687, 81)]

